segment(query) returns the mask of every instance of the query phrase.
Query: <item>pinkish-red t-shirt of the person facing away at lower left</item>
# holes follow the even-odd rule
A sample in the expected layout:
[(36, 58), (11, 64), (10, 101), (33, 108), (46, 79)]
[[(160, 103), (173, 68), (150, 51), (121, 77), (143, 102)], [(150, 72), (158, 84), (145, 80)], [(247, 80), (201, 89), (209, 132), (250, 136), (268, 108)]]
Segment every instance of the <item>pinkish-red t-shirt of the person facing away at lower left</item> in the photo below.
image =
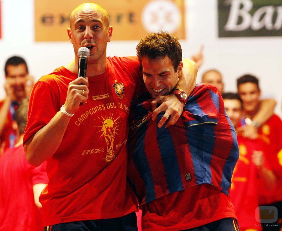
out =
[(48, 183), (46, 162), (33, 167), (22, 145), (7, 149), (0, 157), (0, 182), (0, 230), (42, 230), (32, 186)]

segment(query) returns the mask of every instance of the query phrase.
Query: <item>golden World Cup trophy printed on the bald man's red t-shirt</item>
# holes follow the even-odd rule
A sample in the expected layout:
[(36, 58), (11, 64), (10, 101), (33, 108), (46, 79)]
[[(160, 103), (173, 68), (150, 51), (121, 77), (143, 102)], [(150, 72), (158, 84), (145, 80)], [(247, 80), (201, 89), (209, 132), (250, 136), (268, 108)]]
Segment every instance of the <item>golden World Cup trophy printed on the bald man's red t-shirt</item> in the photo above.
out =
[(103, 122), (102, 132), (105, 136), (106, 143), (108, 145), (108, 152), (106, 155), (106, 162), (111, 162), (115, 158), (115, 152), (113, 151), (115, 134), (116, 134), (116, 124), (112, 119), (106, 119)]

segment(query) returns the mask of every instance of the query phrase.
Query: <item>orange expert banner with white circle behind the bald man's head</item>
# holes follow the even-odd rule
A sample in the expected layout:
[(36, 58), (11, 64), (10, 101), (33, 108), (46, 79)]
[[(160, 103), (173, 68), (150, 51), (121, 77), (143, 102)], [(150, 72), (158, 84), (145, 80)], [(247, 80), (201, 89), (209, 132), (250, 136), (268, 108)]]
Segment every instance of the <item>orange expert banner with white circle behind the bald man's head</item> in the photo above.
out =
[[(34, 0), (35, 41), (68, 41), (69, 16), (81, 0)], [(113, 26), (112, 40), (139, 40), (162, 29), (185, 39), (184, 0), (97, 0)]]

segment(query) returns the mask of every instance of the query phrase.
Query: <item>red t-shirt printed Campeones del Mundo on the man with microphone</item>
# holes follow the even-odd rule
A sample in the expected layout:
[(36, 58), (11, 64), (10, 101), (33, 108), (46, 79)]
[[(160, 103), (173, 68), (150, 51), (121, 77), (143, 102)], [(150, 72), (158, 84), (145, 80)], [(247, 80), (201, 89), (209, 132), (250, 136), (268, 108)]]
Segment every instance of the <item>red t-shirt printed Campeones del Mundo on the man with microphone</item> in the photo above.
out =
[[(62, 142), (47, 159), (49, 183), (40, 196), (44, 226), (121, 217), (136, 211), (126, 180), (128, 116), (136, 87), (143, 89), (137, 58), (107, 58), (104, 74), (89, 78), (89, 99), (70, 119)], [(77, 74), (64, 67), (43, 76), (29, 101), (24, 142), (65, 103)]]

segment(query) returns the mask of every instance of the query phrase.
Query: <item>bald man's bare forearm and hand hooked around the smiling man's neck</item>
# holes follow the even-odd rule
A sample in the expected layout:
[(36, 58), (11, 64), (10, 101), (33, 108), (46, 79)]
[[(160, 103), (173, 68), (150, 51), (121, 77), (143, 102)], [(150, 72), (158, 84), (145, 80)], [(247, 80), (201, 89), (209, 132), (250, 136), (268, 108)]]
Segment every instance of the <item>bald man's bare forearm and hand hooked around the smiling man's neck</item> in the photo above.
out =
[[(177, 89), (181, 89), (189, 96), (196, 86), (196, 76), (198, 67), (195, 62), (188, 59), (183, 59), (182, 75), (176, 85)], [(156, 108), (157, 104), (161, 105)], [(166, 127), (173, 125), (180, 117), (183, 111), (183, 103), (176, 97), (176, 95), (158, 96), (152, 101), (153, 115), (152, 119), (155, 120), (160, 112), (165, 111), (163, 118), (159, 121), (158, 127), (162, 127), (166, 120)]]

